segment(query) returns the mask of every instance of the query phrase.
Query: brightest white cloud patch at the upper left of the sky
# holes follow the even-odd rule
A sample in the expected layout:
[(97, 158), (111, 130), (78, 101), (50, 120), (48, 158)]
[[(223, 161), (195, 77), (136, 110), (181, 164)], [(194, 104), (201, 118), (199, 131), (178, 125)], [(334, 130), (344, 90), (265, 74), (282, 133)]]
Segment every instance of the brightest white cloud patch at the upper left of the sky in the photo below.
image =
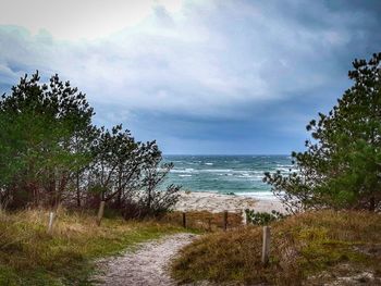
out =
[(181, 0), (1, 0), (0, 24), (49, 30), (58, 39), (96, 39), (139, 24), (152, 8), (174, 13)]

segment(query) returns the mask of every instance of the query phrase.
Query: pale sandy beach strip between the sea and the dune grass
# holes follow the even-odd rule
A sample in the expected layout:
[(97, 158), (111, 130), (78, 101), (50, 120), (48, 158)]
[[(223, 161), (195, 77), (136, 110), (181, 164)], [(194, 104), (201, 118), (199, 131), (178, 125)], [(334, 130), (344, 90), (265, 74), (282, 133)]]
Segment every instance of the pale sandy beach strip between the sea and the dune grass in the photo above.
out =
[(245, 209), (259, 212), (272, 210), (284, 212), (282, 203), (275, 198), (263, 199), (237, 195), (216, 192), (182, 191), (174, 210), (176, 211), (210, 211), (210, 212), (242, 212)]

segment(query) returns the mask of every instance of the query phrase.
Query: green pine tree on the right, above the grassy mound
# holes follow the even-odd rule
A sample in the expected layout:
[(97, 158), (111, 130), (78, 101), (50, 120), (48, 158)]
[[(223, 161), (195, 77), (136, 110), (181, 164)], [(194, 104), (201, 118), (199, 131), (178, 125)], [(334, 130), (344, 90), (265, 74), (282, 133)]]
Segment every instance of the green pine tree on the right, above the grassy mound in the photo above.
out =
[(265, 182), (292, 212), (381, 207), (381, 53), (355, 60), (345, 91), (328, 114), (307, 125), (305, 152), (293, 152), (295, 172), (266, 173)]

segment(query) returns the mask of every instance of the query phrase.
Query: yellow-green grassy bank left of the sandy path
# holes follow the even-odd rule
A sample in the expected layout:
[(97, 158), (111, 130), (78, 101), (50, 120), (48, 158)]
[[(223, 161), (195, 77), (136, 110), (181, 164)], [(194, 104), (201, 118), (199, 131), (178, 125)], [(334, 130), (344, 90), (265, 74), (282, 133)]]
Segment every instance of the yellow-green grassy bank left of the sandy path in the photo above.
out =
[(61, 210), (47, 234), (48, 212), (0, 214), (0, 285), (88, 285), (94, 259), (181, 227), (155, 222), (125, 222)]

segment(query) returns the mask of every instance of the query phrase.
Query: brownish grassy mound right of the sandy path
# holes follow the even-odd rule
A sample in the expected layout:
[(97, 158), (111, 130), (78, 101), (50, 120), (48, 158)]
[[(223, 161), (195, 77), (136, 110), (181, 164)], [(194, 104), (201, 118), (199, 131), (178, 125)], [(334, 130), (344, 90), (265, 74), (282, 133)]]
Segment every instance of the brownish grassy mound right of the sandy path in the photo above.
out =
[(348, 285), (371, 279), (376, 284), (365, 285), (378, 285), (379, 278), (381, 283), (380, 214), (304, 213), (271, 226), (268, 266), (260, 262), (261, 228), (253, 226), (210, 234), (187, 246), (172, 265), (173, 276), (183, 283), (209, 279), (238, 285), (322, 285), (341, 277), (355, 279)]

